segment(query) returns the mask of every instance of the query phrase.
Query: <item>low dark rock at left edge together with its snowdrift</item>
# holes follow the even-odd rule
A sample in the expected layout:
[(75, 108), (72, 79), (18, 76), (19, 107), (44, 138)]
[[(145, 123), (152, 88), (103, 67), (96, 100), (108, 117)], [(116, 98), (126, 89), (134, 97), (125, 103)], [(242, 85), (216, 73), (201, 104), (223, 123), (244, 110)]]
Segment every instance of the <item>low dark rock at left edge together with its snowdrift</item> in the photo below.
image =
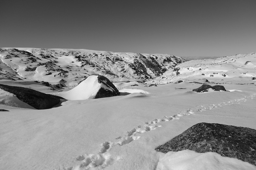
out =
[[(0, 84), (1, 103), (30, 109), (50, 109), (60, 102), (61, 97), (41, 93), (39, 91)], [(32, 106), (32, 107), (31, 107)]]

